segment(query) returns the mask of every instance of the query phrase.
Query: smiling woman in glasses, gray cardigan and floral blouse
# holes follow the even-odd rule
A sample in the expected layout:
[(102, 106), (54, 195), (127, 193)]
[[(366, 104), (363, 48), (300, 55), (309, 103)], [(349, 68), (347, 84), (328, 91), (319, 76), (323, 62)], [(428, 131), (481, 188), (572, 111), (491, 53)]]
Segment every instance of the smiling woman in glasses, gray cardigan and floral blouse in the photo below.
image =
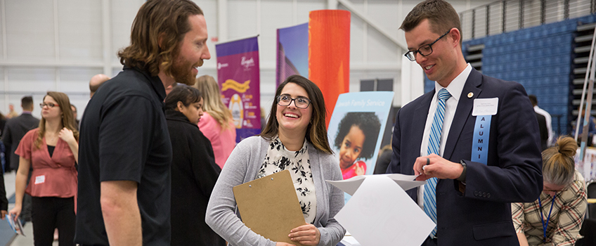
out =
[(242, 224), (235, 214), (232, 190), (286, 169), (306, 221), (287, 232), (290, 240), (302, 245), (337, 245), (346, 232), (334, 219), (344, 206), (344, 193), (325, 180), (342, 180), (342, 172), (327, 138), (323, 94), (299, 75), (288, 77), (278, 87), (262, 134), (238, 143), (228, 158), (209, 199), (207, 224), (232, 246), (292, 245), (268, 240)]

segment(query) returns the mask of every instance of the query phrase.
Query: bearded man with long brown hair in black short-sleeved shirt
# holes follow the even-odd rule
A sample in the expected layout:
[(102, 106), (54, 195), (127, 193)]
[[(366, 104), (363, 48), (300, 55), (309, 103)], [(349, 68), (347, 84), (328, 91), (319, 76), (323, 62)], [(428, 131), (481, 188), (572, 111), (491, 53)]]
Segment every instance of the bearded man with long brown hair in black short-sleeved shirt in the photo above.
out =
[(79, 245), (169, 245), (171, 143), (165, 88), (194, 84), (211, 58), (201, 9), (149, 0), (139, 9), (124, 71), (89, 101), (79, 148)]

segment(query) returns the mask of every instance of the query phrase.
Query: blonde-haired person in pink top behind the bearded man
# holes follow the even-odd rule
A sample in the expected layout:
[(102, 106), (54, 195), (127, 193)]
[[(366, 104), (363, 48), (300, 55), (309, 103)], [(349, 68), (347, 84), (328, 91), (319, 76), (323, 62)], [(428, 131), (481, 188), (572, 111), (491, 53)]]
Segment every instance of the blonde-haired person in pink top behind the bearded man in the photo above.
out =
[(236, 128), (232, 119), (232, 112), (221, 102), (219, 85), (209, 75), (197, 78), (195, 88), (203, 96), (203, 116), (199, 121), (199, 129), (213, 146), (215, 163), (224, 168), (226, 160), (236, 146)]

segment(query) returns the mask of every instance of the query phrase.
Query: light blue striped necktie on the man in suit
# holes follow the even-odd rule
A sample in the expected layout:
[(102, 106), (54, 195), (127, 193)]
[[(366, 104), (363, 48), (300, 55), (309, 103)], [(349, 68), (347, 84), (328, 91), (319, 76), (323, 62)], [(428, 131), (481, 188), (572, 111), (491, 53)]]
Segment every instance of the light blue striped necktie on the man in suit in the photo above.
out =
[[(429, 154), (439, 155), (441, 148), (441, 129), (443, 128), (443, 117), (445, 116), (445, 103), (447, 99), (451, 98), (451, 94), (447, 89), (439, 90), (439, 103), (436, 105), (434, 112), (434, 119), (432, 120), (432, 127), (429, 134), (429, 147), (427, 152)], [(436, 224), (436, 178), (428, 179), (425, 186), (425, 213)], [(436, 235), (436, 226), (432, 229), (430, 237), (434, 238)]]

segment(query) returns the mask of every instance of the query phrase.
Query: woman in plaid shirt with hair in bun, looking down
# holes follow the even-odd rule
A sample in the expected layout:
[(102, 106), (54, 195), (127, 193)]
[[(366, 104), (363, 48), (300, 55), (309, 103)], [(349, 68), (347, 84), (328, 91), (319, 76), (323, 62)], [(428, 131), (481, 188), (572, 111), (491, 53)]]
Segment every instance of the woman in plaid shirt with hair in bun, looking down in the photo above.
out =
[(534, 202), (511, 204), (519, 245), (575, 245), (588, 204), (583, 176), (575, 170), (577, 148), (566, 136), (542, 152), (543, 192)]

